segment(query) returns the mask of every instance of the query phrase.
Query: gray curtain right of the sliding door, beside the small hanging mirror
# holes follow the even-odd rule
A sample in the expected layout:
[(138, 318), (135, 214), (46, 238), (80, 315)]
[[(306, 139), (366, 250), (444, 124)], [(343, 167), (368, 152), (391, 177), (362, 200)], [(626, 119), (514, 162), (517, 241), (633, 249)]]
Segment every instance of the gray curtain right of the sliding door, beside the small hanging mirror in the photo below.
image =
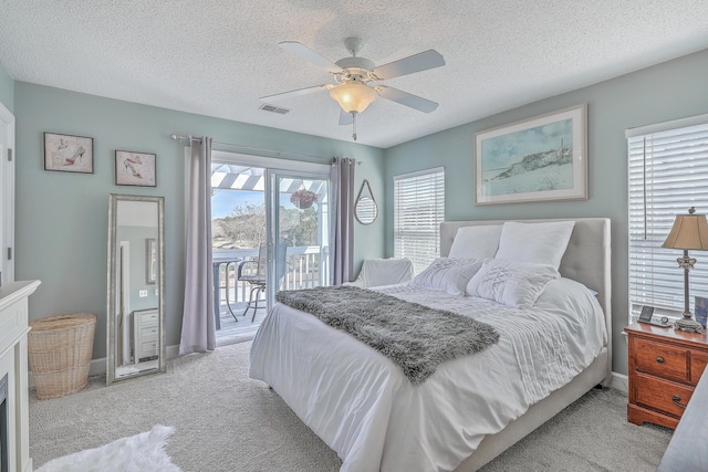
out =
[(335, 157), (330, 182), (333, 196), (332, 285), (354, 279), (354, 159)]

